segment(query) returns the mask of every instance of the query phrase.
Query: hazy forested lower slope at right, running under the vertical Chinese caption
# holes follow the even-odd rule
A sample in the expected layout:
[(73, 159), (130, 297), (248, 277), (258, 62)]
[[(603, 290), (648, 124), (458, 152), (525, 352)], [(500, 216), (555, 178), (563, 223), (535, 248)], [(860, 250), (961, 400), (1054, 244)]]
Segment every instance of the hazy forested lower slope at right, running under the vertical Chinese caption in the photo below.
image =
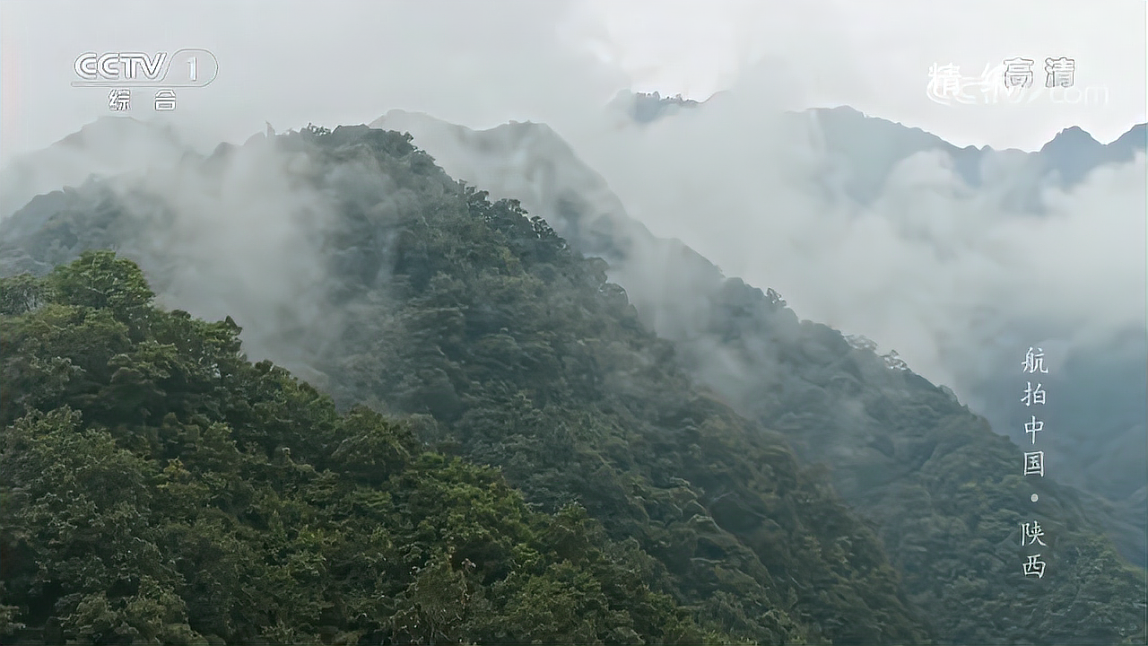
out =
[[(944, 389), (890, 369), (870, 343), (786, 323), (768, 314), (768, 300), (759, 297), (755, 314), (713, 322), (715, 333), (765, 330), (739, 333), (739, 343), (768, 343), (781, 357), (740, 367), (752, 378), (737, 403), (783, 430), (807, 460), (831, 464), (835, 489), (874, 522), (907, 601), (928, 610), (938, 640), (1143, 640), (1143, 571), (1117, 556), (1079, 492), (1022, 477), (1022, 447)], [(1031, 522), (1046, 545), (1019, 545)], [(1023, 570), (1035, 553), (1047, 566), (1041, 578)]]

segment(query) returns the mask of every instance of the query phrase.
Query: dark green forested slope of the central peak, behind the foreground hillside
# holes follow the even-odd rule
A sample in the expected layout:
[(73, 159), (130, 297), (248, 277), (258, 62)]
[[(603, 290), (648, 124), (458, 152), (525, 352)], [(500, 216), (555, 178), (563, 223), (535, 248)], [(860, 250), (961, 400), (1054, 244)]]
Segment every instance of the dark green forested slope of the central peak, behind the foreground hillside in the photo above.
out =
[[(759, 643), (928, 640), (871, 530), (800, 472), (781, 438), (699, 392), (600, 261), (514, 201), (379, 159), (419, 207), (386, 223), (398, 240), (391, 282), (339, 276), (352, 314), (323, 370), (341, 402), (430, 415), (541, 509), (583, 506), (605, 539), (631, 541), (644, 584), (699, 625)], [(344, 212), (336, 244), (362, 248), (379, 223)], [(549, 571), (550, 587), (523, 583), (533, 601), (517, 606), (543, 641), (560, 639), (546, 626), (572, 602), (542, 597), (591, 602), (582, 579)], [(630, 640), (610, 622), (577, 630)]]

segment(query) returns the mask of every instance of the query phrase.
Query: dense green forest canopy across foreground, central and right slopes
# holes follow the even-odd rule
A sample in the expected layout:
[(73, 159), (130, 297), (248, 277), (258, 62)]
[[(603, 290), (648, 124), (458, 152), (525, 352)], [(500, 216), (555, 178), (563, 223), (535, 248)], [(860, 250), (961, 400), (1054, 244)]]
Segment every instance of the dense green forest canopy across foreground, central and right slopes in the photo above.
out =
[[(325, 298), (339, 341), (311, 356), (323, 393), (248, 362), (230, 317), (160, 308), (134, 262), (86, 252), (141, 234), (114, 201), (99, 217), (69, 202), (0, 249), (24, 254), (17, 267), (59, 266), (0, 284), (0, 631), (93, 644), (1143, 639), (1140, 576), (1071, 505), (1047, 518), (1056, 576), (1019, 576), (1021, 482), (1004, 467), (1019, 449), (941, 390), (792, 317), (806, 336), (777, 340), (792, 374), (761, 393), (761, 420), (785, 426), (773, 430), (699, 386), (603, 261), (451, 180), (409, 136), (309, 129), (270, 145), (312, 160), (320, 187), (347, 167), (386, 178), (335, 192)], [(140, 261), (162, 277), (158, 262)], [(792, 316), (748, 286), (726, 298), (730, 334), (774, 321), (758, 312)], [(886, 440), (934, 461), (895, 474), (907, 484), (885, 515), (851, 509), (786, 439), (832, 443), (840, 420), (819, 389), (837, 383), (881, 384), (867, 403)]]

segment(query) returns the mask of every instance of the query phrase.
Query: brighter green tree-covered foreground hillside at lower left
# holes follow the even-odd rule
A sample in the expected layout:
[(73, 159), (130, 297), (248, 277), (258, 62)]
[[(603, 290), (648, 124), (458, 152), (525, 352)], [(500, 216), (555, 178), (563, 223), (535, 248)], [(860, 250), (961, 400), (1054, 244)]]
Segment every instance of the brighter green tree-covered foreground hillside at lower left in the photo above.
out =
[[(0, 635), (25, 625), (57, 625), (77, 644), (705, 635), (584, 512), (532, 509), (497, 470), (426, 452), (403, 420), (339, 415), (281, 369), (243, 361), (230, 320), (150, 307), (138, 276), (126, 260), (85, 256), (46, 279), (54, 287), (42, 306), (0, 318), (13, 377), (0, 434)], [(98, 297), (84, 289), (93, 282)], [(536, 601), (563, 607), (540, 625), (543, 610), (527, 607)]]

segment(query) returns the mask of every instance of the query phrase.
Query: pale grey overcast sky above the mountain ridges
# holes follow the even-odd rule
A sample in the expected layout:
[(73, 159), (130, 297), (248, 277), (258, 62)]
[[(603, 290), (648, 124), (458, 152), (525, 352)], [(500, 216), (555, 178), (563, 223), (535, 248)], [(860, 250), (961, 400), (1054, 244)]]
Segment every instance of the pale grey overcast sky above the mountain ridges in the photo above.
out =
[[(957, 145), (1032, 149), (1069, 125), (1101, 141), (1146, 121), (1143, 0), (242, 1), (0, 0), (0, 156), (109, 114), (108, 89), (72, 87), (83, 52), (211, 51), (214, 83), (164, 118), (207, 141), (264, 122), (365, 123), (391, 108), (474, 128), (597, 110), (629, 87), (705, 99), (747, 69), (791, 107), (851, 105)], [(1078, 94), (1010, 103), (970, 85), (1006, 57), (1076, 61)], [(930, 99), (932, 66), (965, 102)], [(970, 90), (971, 87), (971, 90)], [(1042, 89), (1041, 89), (1042, 90)], [(154, 118), (137, 92), (132, 116)], [(560, 130), (560, 128), (559, 128)]]

